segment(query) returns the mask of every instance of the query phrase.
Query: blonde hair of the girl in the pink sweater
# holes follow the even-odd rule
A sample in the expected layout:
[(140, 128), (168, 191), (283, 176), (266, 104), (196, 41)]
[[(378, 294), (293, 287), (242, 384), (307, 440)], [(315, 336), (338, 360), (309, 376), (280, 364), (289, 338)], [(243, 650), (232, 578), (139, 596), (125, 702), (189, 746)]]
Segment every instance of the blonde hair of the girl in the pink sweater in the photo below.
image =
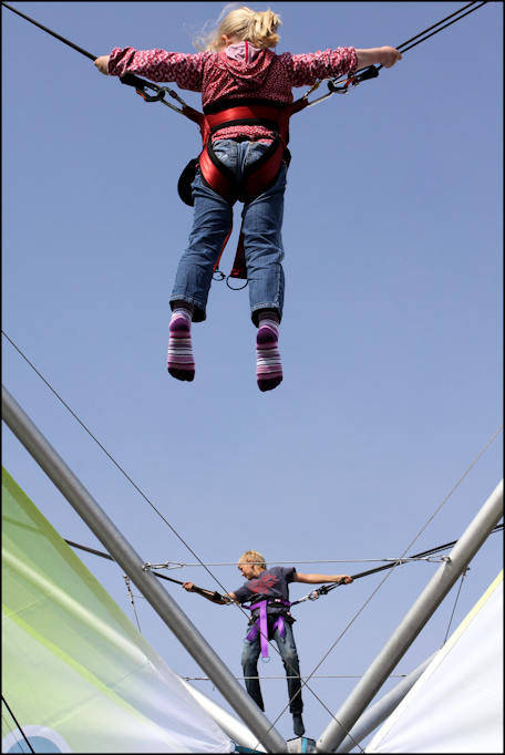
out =
[[(233, 8), (233, 10), (230, 10)], [(264, 50), (275, 48), (280, 40), (277, 27), (281, 20), (271, 10), (255, 12), (247, 6), (226, 6), (217, 20), (217, 29), (203, 32), (195, 46), (198, 50), (220, 52), (225, 49), (223, 34), (234, 37), (238, 42), (250, 42), (255, 48)]]

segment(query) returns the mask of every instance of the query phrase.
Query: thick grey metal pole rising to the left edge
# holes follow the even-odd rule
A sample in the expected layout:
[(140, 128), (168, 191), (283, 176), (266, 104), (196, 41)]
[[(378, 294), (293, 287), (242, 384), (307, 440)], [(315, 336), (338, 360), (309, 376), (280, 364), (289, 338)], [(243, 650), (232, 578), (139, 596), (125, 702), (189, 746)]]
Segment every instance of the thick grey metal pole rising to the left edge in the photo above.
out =
[(210, 648), (175, 600), (150, 571), (145, 561), (132, 548), (96, 500), (79, 482), (70, 467), (35, 427), (30, 417), (2, 385), (2, 418), (18, 439), (35, 459), (60, 493), (66, 498), (91, 531), (99, 538), (115, 561), (128, 575), (144, 598), (165, 622), (177, 640), (186, 648), (198, 665), (213, 681), (225, 700), (236, 711), (267, 752), (285, 753), (287, 743), (271, 726), (229, 669)]

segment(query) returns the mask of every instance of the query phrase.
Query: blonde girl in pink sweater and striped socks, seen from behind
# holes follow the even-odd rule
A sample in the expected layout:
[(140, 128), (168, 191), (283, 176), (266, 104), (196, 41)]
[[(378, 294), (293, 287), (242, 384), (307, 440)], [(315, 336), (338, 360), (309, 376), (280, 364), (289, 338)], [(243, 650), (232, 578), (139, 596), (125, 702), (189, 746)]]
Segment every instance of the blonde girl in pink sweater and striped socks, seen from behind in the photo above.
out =
[[(175, 82), (202, 92), (212, 128), (190, 184), (193, 228), (169, 299), (168, 372), (192, 381), (195, 361), (192, 323), (206, 319), (215, 265), (233, 225), (235, 201), (241, 211), (244, 261), (256, 334), (256, 376), (260, 391), (282, 380), (278, 349), (285, 297), (281, 238), (288, 106), (295, 86), (311, 85), (369, 65), (391, 68), (401, 60), (394, 48), (276, 54), (280, 19), (270, 10), (241, 7), (221, 14), (205, 51), (196, 54), (115, 48), (95, 61), (109, 75), (134, 73), (153, 82)], [(205, 139), (208, 138), (207, 144)]]

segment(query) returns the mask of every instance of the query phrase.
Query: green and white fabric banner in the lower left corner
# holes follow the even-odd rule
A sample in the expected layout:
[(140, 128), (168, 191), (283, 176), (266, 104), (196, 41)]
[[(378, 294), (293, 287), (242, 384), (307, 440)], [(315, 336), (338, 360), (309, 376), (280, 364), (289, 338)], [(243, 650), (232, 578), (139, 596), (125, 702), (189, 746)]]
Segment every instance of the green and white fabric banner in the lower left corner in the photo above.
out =
[(2, 752), (233, 752), (4, 469), (2, 694)]

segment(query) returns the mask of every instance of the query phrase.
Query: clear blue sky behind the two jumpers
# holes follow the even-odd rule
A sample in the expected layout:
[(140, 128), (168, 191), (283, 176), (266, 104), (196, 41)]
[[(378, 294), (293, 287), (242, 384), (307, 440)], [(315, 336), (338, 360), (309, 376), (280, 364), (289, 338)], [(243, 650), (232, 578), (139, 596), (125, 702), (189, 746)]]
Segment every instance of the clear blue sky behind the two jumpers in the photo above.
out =
[[(223, 8), (12, 6), (95, 55), (114, 46), (192, 52), (188, 31)], [(278, 51), (297, 53), (400, 45), (462, 6), (271, 8), (282, 20)], [(166, 372), (168, 298), (192, 221), (176, 183), (198, 153), (196, 126), (2, 9), (2, 329), (198, 559), (231, 563), (209, 567), (226, 589), (240, 585), (233, 562), (248, 548), (301, 572), (357, 573), (374, 566), (359, 559), (455, 540), (502, 478), (498, 433), (423, 530), (502, 425), (502, 30), (503, 4), (489, 2), (377, 80), (293, 116), (285, 380), (264, 394), (247, 289), (225, 283), (213, 285), (208, 319), (193, 329), (195, 381)], [(198, 94), (182, 95), (200, 106)], [(3, 384), (137, 552), (195, 563), (4, 337), (2, 365)], [(7, 428), (3, 465), (64, 538), (101, 548)], [(121, 570), (80, 556), (134, 620)], [(471, 565), (452, 629), (501, 563), (493, 535)], [(305, 692), (308, 736), (329, 722), (315, 695), (337, 712), (436, 568), (395, 569), (349, 629), (383, 572), (293, 609), (302, 675), (343, 632), (317, 671), (333, 678), (312, 679), (315, 694)], [(172, 576), (220, 589), (200, 566)], [(241, 675), (240, 611), (167, 589)], [(394, 673), (443, 643), (456, 590)], [(291, 599), (306, 592), (296, 586)], [(200, 676), (154, 611), (135, 602), (165, 661)], [(282, 676), (278, 658), (260, 673)], [(209, 682), (197, 685), (223, 702)], [(262, 690), (274, 721), (286, 682), (265, 680)], [(277, 727), (292, 737), (289, 713)]]

